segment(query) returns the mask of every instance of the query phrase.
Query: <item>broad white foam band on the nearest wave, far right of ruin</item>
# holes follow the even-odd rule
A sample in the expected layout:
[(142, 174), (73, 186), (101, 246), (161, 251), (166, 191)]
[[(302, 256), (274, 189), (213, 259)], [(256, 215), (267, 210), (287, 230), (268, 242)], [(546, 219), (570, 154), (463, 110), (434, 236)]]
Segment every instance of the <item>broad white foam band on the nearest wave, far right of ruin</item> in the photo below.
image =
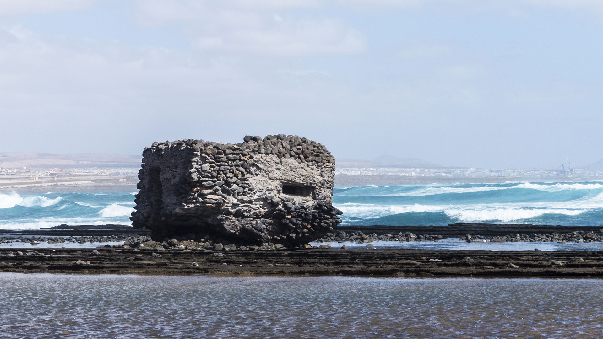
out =
[(472, 210), (472, 209), (447, 209), (444, 211), (447, 216), (456, 218), (459, 221), (513, 221), (539, 217), (543, 214), (565, 214), (578, 215), (584, 212), (582, 209), (490, 209), (490, 210)]

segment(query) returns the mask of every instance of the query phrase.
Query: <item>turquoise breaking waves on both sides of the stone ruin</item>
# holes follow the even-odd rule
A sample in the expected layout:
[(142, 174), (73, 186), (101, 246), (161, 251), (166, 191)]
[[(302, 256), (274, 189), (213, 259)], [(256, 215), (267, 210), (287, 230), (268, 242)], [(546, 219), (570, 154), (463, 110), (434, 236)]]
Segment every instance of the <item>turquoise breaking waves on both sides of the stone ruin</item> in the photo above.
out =
[[(0, 194), (0, 229), (130, 224), (136, 192)], [(456, 183), (335, 188), (343, 224), (603, 225), (603, 182)]]

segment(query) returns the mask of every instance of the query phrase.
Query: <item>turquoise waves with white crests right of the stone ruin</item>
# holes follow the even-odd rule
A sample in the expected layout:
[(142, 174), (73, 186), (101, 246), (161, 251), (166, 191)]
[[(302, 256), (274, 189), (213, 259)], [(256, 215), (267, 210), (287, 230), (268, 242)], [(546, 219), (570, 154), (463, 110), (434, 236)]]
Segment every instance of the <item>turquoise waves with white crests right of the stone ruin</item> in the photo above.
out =
[(602, 182), (455, 183), (335, 188), (349, 225), (603, 225)]

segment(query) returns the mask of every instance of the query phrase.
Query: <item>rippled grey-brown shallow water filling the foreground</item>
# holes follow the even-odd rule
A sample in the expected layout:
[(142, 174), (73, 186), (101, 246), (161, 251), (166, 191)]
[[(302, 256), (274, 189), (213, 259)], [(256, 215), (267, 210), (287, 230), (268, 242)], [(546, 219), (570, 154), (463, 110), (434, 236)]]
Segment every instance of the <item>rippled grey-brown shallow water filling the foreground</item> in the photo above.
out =
[(0, 338), (600, 338), (603, 280), (0, 274)]

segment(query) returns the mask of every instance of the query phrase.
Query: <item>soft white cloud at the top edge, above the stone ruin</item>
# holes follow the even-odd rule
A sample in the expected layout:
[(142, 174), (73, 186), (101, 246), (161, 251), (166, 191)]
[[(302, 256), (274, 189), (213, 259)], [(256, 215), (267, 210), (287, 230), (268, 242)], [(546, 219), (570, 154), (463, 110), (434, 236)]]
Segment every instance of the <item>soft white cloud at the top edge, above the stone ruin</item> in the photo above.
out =
[(302, 2), (139, 2), (141, 25), (173, 24), (181, 27), (191, 45), (202, 51), (248, 52), (288, 56), (356, 54), (365, 50), (360, 31), (333, 19), (309, 19), (275, 13), (305, 5)]

